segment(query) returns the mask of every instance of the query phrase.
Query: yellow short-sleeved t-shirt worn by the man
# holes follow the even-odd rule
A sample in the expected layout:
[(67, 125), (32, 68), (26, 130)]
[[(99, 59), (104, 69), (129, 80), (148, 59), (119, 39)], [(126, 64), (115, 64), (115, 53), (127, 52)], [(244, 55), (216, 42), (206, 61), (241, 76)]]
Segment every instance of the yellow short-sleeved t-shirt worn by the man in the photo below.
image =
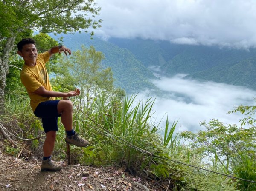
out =
[(49, 60), (49, 52), (38, 54), (35, 66), (23, 65), (20, 72), (20, 79), (22, 84), (26, 87), (26, 91), (30, 97), (30, 105), (33, 110), (38, 106), (39, 103), (49, 100), (55, 100), (54, 97), (42, 97), (34, 92), (44, 86), (48, 91), (52, 91), (52, 86), (49, 81), (49, 76), (45, 68), (45, 63)]

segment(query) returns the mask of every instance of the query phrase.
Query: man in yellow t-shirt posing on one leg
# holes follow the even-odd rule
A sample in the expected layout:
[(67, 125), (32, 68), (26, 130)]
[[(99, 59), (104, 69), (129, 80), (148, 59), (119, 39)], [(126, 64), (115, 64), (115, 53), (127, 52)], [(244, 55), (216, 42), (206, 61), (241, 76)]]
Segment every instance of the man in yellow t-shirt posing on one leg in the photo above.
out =
[(52, 91), (45, 64), (55, 53), (64, 52), (70, 55), (70, 49), (64, 46), (55, 46), (48, 51), (38, 54), (35, 40), (31, 38), (22, 39), (18, 44), (18, 51), (23, 57), (24, 65), (20, 72), (20, 79), (30, 97), (30, 105), (37, 117), (42, 118), (46, 139), (43, 145), (43, 161), (41, 171), (59, 171), (61, 165), (55, 165), (51, 161), (54, 149), (56, 131), (58, 131), (58, 117), (67, 132), (65, 141), (79, 147), (85, 147), (89, 143), (81, 139), (72, 127), (73, 104), (70, 100), (55, 100), (55, 97), (72, 97), (80, 94), (79, 89), (68, 93)]

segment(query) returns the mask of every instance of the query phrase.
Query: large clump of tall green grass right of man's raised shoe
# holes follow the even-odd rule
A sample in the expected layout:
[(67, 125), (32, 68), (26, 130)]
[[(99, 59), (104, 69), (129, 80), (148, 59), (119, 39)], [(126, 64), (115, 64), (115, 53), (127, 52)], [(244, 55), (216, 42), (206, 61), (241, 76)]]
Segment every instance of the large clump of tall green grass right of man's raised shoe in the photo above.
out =
[[(87, 105), (78, 106), (77, 103), (74, 103), (76, 107), (79, 107), (74, 111), (74, 128), (79, 134), (89, 139), (91, 145), (93, 145), (90, 151), (85, 150), (85, 155), (90, 154), (84, 161), (80, 162), (124, 165), (133, 174), (144, 170), (141, 169), (141, 166), (146, 167), (148, 165), (150, 160), (148, 154), (112, 139), (119, 140), (116, 137), (120, 138), (120, 142), (125, 140), (145, 151), (165, 153), (165, 156), (168, 156), (171, 150), (172, 152), (179, 150), (177, 149), (179, 144), (175, 142), (177, 136), (174, 136), (175, 125), (169, 128), (169, 121), (166, 121), (167, 130), (165, 134), (167, 137), (163, 143), (162, 136), (157, 133), (160, 131), (158, 129), (160, 122), (158, 124), (151, 123), (153, 121), (151, 119), (154, 105), (153, 98), (147, 98), (139, 102), (135, 100), (136, 95), (124, 97), (123, 100), (109, 100), (108, 98), (108, 94), (100, 94), (93, 100), (90, 107), (87, 107)], [(61, 134), (63, 136), (64, 132)], [(80, 148), (73, 149), (79, 150)], [(79, 154), (79, 152), (76, 154)]]

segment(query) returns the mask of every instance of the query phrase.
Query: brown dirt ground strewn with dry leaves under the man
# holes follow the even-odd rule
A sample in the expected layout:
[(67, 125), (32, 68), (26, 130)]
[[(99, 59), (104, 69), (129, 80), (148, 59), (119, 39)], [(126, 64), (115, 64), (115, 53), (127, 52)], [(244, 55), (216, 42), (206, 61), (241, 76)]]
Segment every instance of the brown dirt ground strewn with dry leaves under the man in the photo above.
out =
[(122, 168), (66, 165), (41, 172), (41, 161), (25, 161), (0, 151), (0, 191), (160, 191), (150, 180), (132, 177)]

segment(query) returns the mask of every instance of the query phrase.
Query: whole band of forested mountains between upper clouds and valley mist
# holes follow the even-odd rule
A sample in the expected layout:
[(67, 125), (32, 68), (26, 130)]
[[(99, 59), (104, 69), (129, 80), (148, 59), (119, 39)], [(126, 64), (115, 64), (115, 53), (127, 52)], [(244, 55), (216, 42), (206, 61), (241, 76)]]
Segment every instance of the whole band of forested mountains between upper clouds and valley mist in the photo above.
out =
[[(56, 38), (56, 37), (55, 37)], [(128, 92), (156, 87), (151, 83), (154, 71), (160, 75), (173, 76), (177, 73), (187, 77), (211, 80), (256, 89), (256, 49), (237, 50), (217, 46), (177, 45), (168, 41), (111, 38), (103, 41), (90, 39), (87, 34), (64, 36), (64, 44), (72, 50), (93, 45), (102, 51), (106, 59), (103, 66), (110, 66), (116, 85)]]

